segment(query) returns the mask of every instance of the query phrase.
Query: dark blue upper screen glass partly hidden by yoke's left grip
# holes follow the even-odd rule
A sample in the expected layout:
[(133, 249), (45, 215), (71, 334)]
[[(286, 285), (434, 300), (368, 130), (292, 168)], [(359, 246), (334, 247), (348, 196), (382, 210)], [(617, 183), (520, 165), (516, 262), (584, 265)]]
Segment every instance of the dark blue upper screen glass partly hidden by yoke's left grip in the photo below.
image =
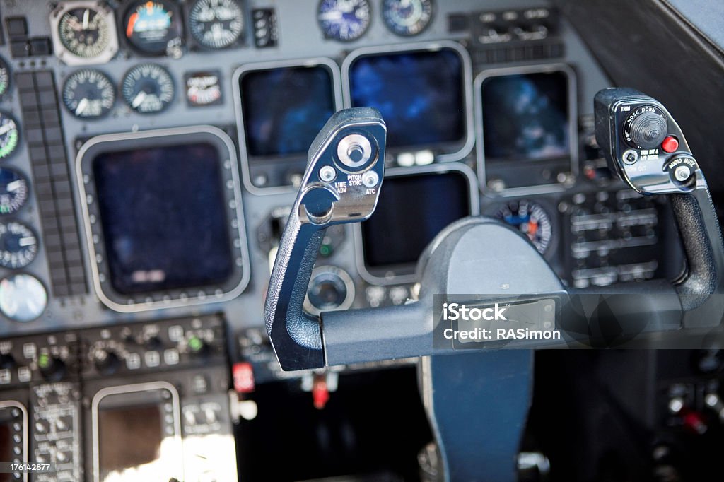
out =
[(245, 72), (239, 89), (249, 156), (306, 153), (335, 111), (332, 72), (323, 66)]

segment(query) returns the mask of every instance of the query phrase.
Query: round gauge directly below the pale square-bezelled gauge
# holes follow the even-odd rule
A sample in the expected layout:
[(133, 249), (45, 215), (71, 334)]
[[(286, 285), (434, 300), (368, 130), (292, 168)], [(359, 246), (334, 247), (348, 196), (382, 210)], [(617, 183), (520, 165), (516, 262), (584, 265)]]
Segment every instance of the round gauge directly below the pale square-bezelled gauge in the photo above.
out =
[(98, 119), (108, 114), (116, 101), (113, 83), (103, 72), (83, 69), (73, 72), (63, 85), (63, 103), (80, 119)]

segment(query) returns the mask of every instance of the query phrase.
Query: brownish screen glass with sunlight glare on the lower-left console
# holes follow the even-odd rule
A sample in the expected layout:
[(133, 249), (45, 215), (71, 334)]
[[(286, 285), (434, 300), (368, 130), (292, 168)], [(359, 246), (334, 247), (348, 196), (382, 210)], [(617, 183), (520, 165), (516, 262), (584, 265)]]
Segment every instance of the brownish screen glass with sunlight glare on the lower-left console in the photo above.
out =
[[(159, 460), (163, 426), (158, 405), (98, 411), (98, 463), (101, 481), (111, 473)], [(113, 478), (113, 480), (117, 480)]]

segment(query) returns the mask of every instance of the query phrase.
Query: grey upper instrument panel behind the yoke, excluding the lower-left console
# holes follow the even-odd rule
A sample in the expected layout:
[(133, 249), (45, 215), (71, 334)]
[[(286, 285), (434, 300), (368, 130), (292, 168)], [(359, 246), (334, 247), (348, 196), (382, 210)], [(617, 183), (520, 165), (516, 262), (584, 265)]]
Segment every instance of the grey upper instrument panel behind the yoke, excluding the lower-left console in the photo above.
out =
[[(680, 267), (611, 263), (641, 245), (672, 258), (666, 207), (622, 200), (601, 169), (586, 99), (607, 81), (542, 2), (77, 0), (2, 15), (0, 300), (22, 300), (0, 303), (8, 334), (161, 309), (261, 324), (306, 150), (346, 106), (382, 111), (392, 182), (379, 222), (323, 243), (332, 292), (311, 290), (340, 306), (401, 303), (421, 251), (405, 238), (476, 213), (576, 286)], [(408, 208), (416, 183), (439, 185), (425, 215)]]

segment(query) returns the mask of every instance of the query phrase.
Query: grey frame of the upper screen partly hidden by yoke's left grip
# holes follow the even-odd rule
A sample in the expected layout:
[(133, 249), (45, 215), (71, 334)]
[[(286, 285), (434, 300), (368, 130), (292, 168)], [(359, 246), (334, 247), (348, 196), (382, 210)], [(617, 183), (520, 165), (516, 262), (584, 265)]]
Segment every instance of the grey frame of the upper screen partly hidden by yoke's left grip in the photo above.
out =
[[(280, 69), (285, 67), (326, 67), (332, 75), (332, 89), (334, 90), (334, 109), (339, 111), (342, 109), (342, 87), (340, 79), (340, 67), (337, 62), (327, 57), (314, 57), (311, 59), (296, 59), (281, 62), (257, 62), (253, 64), (244, 64), (234, 71), (232, 76), (232, 87), (234, 93), (234, 111), (237, 126), (237, 141), (239, 143), (241, 172), (243, 176), (244, 187), (249, 193), (256, 195), (270, 195), (282, 193), (296, 193), (297, 189), (293, 186), (272, 186), (258, 187), (251, 181), (250, 156), (246, 146), (246, 132), (244, 127), (244, 116), (242, 112), (241, 89), (239, 80), (247, 72), (256, 70)], [(280, 157), (280, 156), (279, 156)], [(303, 156), (306, 158), (306, 155)]]

